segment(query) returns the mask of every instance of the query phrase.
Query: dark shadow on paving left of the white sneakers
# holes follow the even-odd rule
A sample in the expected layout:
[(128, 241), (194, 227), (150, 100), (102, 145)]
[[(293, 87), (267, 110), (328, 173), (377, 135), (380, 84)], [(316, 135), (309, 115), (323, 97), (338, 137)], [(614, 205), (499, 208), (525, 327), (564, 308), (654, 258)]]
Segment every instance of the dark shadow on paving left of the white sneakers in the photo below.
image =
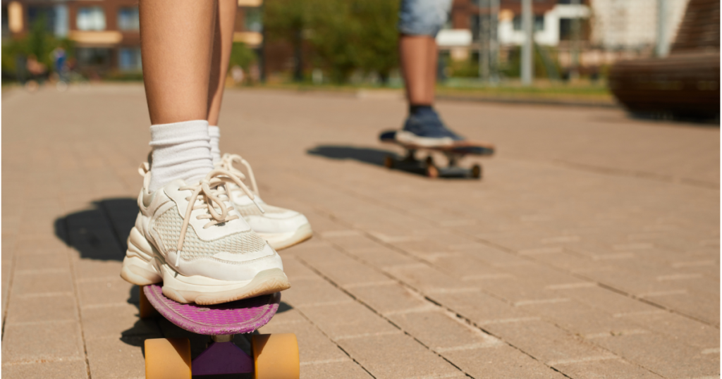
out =
[(55, 220), (55, 235), (81, 258), (123, 261), (126, 239), (138, 215), (136, 199), (93, 201), (92, 209)]

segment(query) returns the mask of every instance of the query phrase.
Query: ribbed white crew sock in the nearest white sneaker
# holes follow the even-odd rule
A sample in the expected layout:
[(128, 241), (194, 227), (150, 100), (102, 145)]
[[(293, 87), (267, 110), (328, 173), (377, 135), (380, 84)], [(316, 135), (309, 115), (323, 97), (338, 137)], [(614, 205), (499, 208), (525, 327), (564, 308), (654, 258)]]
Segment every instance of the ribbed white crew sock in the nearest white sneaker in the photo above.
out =
[(208, 121), (152, 125), (150, 139), (153, 157), (148, 190), (151, 192), (176, 179), (195, 183), (213, 170)]

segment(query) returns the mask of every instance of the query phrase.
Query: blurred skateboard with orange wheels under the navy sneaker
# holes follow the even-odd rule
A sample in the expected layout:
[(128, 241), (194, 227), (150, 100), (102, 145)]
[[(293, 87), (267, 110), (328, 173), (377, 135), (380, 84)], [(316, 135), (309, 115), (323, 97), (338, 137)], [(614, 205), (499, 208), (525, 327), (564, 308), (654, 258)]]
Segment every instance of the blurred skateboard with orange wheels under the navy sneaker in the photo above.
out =
[[(411, 144), (406, 141), (399, 141), (396, 138), (396, 131), (384, 131), (379, 136), (380, 141), (388, 144), (396, 144), (406, 150), (404, 158), (399, 159), (396, 155), (388, 154), (383, 165), (388, 168), (424, 173), (429, 178), (482, 178), (482, 166), (477, 164), (471, 167), (461, 167), (459, 161), (467, 155), (488, 156), (494, 154), (495, 147), (488, 142), (480, 141), (455, 141), (453, 144), (444, 146), (423, 146)], [(426, 152), (426, 158), (419, 160), (417, 152)], [(432, 152), (444, 154), (448, 165), (440, 167), (435, 164)]]

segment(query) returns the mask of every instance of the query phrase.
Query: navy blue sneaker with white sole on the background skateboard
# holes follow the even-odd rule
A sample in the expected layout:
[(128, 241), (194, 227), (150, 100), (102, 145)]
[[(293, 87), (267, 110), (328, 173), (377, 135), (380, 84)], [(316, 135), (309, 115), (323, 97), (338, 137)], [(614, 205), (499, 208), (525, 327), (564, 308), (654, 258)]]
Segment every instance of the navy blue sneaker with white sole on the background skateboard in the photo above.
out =
[(438, 113), (431, 107), (422, 107), (409, 114), (404, 128), (396, 133), (396, 140), (423, 147), (449, 146), (463, 140), (446, 128)]

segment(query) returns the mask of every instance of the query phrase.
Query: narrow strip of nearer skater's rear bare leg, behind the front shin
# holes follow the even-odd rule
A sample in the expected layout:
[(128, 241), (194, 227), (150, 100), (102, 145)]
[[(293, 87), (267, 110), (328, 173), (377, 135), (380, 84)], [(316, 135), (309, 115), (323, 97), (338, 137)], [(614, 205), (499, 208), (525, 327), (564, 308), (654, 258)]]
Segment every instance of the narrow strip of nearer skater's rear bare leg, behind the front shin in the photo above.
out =
[(218, 125), (223, 100), (223, 87), (233, 47), (233, 26), (238, 9), (237, 0), (218, 0), (218, 16), (213, 39), (213, 61), (208, 89), (208, 123)]

